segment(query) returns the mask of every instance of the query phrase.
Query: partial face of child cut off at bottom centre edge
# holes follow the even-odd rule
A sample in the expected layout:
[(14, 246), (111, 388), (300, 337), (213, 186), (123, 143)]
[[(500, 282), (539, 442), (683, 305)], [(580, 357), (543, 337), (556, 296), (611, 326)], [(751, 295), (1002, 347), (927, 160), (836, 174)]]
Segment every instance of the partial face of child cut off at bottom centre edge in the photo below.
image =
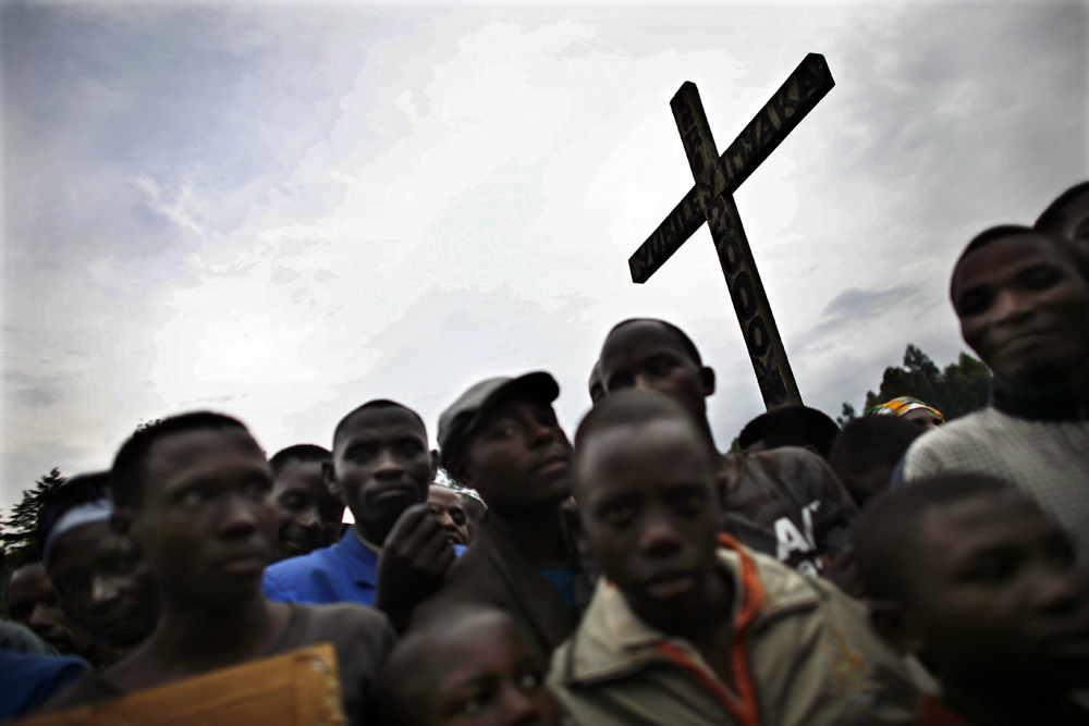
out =
[(560, 723), (533, 651), (500, 613), (480, 613), (440, 635), (420, 678), (433, 684), (416, 723), (501, 726)]

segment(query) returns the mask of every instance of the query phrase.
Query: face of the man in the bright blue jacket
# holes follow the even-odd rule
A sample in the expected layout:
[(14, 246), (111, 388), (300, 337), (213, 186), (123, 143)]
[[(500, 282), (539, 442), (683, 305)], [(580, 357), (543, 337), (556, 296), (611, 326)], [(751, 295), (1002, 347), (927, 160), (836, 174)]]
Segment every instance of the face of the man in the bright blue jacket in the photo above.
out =
[(333, 448), (334, 490), (363, 536), (382, 544), (404, 510), (427, 499), (435, 469), (424, 426), (400, 406), (365, 408)]

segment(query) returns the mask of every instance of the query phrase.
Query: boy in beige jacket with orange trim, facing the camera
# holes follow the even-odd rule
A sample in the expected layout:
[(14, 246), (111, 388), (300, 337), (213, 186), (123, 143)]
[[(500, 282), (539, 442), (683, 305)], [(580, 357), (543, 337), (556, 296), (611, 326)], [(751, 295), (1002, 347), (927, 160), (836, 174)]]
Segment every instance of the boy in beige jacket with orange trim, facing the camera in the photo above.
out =
[(578, 724), (908, 723), (919, 690), (865, 608), (717, 532), (718, 454), (675, 401), (611, 394), (575, 440), (604, 578), (549, 682)]

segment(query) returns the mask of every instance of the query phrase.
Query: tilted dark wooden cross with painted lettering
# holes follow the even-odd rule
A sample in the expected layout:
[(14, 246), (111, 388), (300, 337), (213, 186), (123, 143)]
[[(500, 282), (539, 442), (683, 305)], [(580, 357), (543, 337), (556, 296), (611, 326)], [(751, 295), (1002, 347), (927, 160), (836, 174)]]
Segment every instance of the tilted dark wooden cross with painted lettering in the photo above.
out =
[(696, 184), (627, 260), (632, 281), (644, 283), (707, 221), (760, 394), (769, 410), (800, 404), (802, 394), (771, 315), (733, 193), (834, 85), (824, 57), (809, 53), (719, 157), (696, 84), (685, 82), (670, 107)]

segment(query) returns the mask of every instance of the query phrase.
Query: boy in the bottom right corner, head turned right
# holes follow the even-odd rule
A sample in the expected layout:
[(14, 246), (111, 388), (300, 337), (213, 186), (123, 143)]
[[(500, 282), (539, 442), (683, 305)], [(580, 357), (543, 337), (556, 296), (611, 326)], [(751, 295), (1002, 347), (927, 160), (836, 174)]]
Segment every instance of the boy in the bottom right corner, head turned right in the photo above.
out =
[(1036, 503), (946, 475), (890, 490), (856, 532), (874, 624), (942, 685), (917, 724), (1089, 723), (1070, 696), (1089, 686), (1089, 599), (1069, 538)]

